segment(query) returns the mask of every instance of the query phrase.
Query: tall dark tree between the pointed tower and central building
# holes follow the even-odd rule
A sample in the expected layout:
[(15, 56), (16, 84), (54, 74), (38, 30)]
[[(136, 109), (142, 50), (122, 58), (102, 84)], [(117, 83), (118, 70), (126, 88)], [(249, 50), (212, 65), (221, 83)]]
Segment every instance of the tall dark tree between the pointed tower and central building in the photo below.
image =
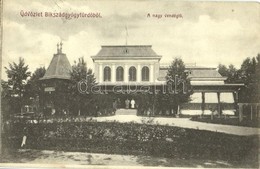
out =
[(81, 115), (81, 112), (93, 111), (94, 97), (91, 87), (96, 84), (96, 79), (91, 69), (87, 68), (87, 63), (83, 58), (75, 61), (71, 71), (70, 85), (70, 105), (74, 113)]

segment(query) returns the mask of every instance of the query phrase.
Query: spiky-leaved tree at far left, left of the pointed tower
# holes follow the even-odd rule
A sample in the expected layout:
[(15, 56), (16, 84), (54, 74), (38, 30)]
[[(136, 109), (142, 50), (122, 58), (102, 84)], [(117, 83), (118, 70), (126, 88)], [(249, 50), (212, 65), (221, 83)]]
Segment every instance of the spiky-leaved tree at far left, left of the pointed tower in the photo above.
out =
[(5, 67), (5, 70), (8, 77), (8, 88), (11, 90), (10, 95), (12, 101), (17, 101), (17, 103), (12, 103), (11, 106), (16, 108), (14, 111), (20, 111), (23, 104), (27, 78), (30, 77), (31, 73), (28, 71), (28, 65), (25, 65), (24, 59), (21, 57), (19, 58), (18, 64), (15, 62), (12, 64), (9, 63), (9, 68)]

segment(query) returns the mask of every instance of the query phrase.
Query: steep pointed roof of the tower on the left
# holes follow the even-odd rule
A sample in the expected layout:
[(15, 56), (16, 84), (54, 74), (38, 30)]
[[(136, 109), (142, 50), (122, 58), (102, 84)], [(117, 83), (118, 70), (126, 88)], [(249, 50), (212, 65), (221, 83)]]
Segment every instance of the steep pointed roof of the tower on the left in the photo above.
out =
[(46, 79), (70, 79), (71, 65), (64, 53), (53, 55), (51, 63), (41, 80)]

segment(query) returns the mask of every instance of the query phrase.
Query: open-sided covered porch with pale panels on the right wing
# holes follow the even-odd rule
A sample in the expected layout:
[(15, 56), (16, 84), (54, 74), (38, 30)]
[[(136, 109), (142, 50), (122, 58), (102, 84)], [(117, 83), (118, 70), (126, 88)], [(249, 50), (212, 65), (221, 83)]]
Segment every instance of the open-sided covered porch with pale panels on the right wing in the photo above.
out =
[(183, 115), (238, 115), (237, 103), (243, 84), (196, 84), (189, 103), (183, 104)]

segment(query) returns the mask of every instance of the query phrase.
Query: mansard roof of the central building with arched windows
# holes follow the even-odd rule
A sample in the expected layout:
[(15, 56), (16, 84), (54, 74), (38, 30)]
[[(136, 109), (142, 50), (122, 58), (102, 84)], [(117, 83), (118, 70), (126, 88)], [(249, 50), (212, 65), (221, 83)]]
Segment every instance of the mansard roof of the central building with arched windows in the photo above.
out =
[(152, 49), (152, 45), (101, 46), (101, 50), (92, 59), (102, 57), (155, 57), (161, 58)]

